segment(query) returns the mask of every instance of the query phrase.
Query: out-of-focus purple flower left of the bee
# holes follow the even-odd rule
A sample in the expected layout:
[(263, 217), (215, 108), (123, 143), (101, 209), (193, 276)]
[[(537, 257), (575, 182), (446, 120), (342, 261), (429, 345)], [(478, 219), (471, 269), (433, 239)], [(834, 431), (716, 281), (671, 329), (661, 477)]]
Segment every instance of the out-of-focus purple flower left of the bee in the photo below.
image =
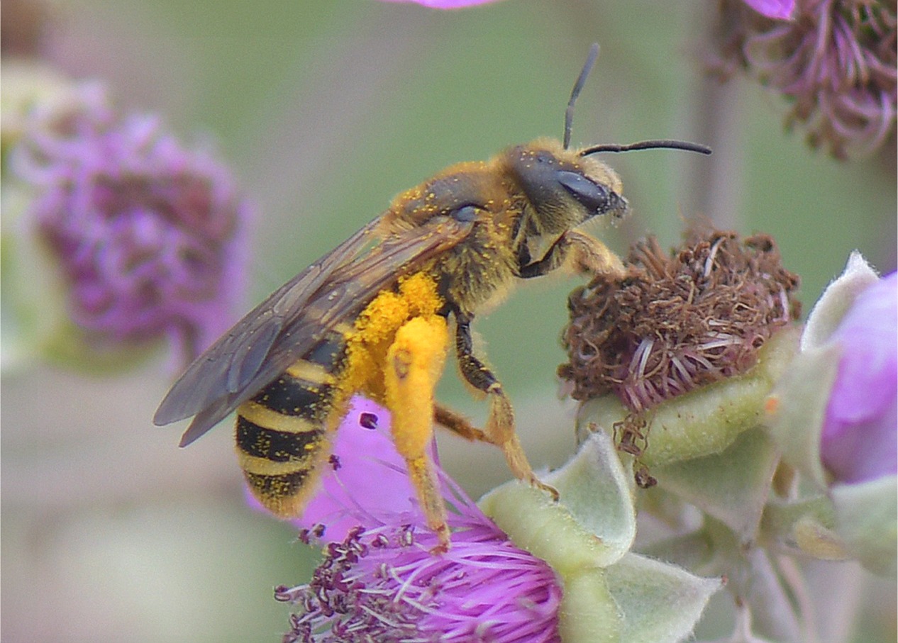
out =
[(13, 171), (35, 189), (29, 225), (91, 339), (165, 335), (191, 358), (231, 324), (250, 207), (211, 154), (186, 150), (155, 116), (119, 118), (87, 84), (65, 109), (35, 110)]

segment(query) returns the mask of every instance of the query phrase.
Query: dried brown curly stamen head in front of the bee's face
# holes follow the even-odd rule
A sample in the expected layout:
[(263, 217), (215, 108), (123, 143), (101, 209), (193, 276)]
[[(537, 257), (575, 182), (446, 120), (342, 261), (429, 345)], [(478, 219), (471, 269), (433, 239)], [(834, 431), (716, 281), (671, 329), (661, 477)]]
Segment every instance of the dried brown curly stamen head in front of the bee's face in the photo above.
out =
[(559, 375), (580, 401), (614, 392), (635, 413), (751, 368), (796, 319), (798, 277), (770, 236), (693, 235), (668, 256), (654, 238), (630, 251), (628, 273), (600, 275), (568, 298)]

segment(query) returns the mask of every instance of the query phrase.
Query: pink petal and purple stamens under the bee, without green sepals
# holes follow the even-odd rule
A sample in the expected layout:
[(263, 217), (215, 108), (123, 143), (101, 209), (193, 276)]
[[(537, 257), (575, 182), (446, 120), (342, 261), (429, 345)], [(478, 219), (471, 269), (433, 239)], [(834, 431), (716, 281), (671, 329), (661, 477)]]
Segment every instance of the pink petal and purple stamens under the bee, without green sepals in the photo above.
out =
[(389, 414), (354, 400), (335, 437), (300, 538), (327, 542), (307, 585), (276, 589), (295, 603), (285, 641), (559, 641), (561, 587), (552, 568), (505, 533), (443, 471), (452, 549), (435, 555)]

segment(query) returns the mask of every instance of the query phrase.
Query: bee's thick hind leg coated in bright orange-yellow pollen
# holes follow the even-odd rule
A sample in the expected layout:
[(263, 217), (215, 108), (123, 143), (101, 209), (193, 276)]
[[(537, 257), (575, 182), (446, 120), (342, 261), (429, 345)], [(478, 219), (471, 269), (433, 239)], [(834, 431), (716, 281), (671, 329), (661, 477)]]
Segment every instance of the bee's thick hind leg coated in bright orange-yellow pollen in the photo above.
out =
[(416, 317), (396, 332), (387, 350), (384, 388), (392, 413), (392, 439), (409, 467), (409, 478), (439, 544), (434, 553), (448, 551), (449, 525), (433, 462), (427, 447), (433, 437), (434, 387), (445, 363), (445, 319)]

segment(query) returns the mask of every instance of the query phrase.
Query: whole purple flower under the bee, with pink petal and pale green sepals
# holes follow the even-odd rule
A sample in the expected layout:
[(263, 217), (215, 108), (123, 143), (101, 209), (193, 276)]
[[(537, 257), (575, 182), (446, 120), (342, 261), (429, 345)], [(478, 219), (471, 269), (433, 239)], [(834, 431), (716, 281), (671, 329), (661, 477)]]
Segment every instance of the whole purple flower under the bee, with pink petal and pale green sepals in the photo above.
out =
[(635, 510), (602, 436), (546, 477), (561, 503), (522, 482), (481, 501), (515, 542), (439, 471), (452, 548), (433, 554), (389, 423), (357, 397), (337, 433), (299, 521), (324, 559), (310, 583), (275, 590), (300, 608), (285, 641), (677, 641), (720, 587), (628, 553)]

